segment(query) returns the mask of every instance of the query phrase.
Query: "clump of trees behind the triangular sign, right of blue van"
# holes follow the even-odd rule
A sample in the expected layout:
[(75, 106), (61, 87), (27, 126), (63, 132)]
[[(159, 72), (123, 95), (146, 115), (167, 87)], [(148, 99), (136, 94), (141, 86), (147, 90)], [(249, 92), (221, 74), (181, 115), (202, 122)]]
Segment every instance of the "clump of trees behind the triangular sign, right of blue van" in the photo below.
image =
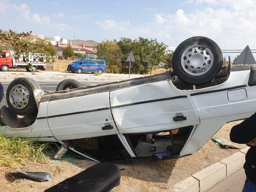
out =
[(167, 53), (166, 48), (163, 42), (142, 37), (135, 40), (104, 40), (96, 46), (98, 58), (106, 61), (106, 72), (124, 74), (129, 71), (126, 59), (131, 51), (135, 58), (131, 65), (132, 74), (152, 74), (152, 70), (159, 68), (160, 64), (171, 68), (172, 54)]

